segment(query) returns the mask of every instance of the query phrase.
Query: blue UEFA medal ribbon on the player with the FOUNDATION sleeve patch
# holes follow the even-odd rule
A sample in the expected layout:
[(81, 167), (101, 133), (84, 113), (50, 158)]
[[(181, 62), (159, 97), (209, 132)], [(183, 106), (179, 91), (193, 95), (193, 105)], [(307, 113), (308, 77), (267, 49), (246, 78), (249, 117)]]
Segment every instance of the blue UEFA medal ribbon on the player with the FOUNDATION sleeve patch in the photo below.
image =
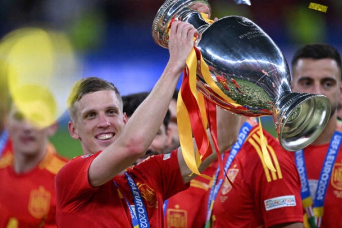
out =
[[(231, 166), (234, 158), (236, 157), (236, 155), (239, 153), (243, 143), (246, 141), (246, 138), (250, 132), (250, 130), (254, 127), (254, 125), (250, 124), (248, 121), (246, 121), (242, 127), (240, 128), (239, 131), (239, 136), (238, 136), (238, 140), (236, 141), (236, 143), (233, 144), (232, 149), (230, 151), (230, 154), (227, 158), (227, 161), (225, 162), (224, 165), (224, 173), (226, 173), (229, 169), (229, 167)], [(222, 159), (223, 159), (224, 155), (222, 155)], [(207, 218), (206, 218), (206, 225), (205, 228), (208, 228), (210, 225), (210, 217), (211, 217), (211, 213), (212, 213), (212, 209), (214, 206), (214, 201), (216, 199), (218, 190), (220, 189), (222, 182), (223, 182), (223, 178), (220, 178), (217, 182), (218, 176), (219, 176), (219, 170), (220, 167), (217, 167), (216, 173), (215, 173), (215, 177), (214, 177), (214, 181), (213, 181), (213, 185), (211, 186), (210, 189), (210, 194), (209, 194), (209, 199), (208, 199), (208, 206), (207, 206)]]

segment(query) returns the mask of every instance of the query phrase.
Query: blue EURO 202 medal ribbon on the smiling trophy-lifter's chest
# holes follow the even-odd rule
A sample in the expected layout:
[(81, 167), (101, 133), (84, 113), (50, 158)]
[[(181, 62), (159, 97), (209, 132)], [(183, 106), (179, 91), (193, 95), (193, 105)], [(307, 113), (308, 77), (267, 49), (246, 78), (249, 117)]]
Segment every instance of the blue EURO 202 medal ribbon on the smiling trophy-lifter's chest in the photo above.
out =
[[(126, 175), (128, 185), (131, 189), (135, 208), (133, 209), (133, 207), (129, 204), (126, 197), (122, 194), (121, 195), (125, 198), (125, 201), (127, 203), (127, 206), (128, 206), (129, 212), (131, 214), (131, 218), (132, 218), (132, 225), (134, 228), (145, 228), (145, 227), (149, 228), (147, 211), (145, 209), (144, 203), (142, 202), (138, 187), (135, 184), (133, 178), (126, 171), (125, 171), (125, 175)], [(118, 184), (116, 182), (114, 182), (114, 183), (115, 183), (115, 185), (117, 185), (117, 187), (119, 189)], [(119, 189), (119, 191), (120, 191), (120, 189)]]

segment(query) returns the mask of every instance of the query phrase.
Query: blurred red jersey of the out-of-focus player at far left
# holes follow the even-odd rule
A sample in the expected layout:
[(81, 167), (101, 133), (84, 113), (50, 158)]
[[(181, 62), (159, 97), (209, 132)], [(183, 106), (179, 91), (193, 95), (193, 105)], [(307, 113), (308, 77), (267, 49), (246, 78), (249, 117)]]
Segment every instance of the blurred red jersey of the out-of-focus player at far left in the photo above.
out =
[(10, 148), (0, 159), (0, 227), (56, 227), (54, 179), (67, 160), (48, 149), (37, 167), (17, 174)]

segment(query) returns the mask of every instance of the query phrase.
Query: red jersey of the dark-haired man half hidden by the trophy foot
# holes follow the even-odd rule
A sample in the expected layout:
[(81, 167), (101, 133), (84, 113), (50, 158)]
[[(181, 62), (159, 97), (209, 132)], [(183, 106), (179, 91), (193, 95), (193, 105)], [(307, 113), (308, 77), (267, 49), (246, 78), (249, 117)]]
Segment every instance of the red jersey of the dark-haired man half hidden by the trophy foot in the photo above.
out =
[[(304, 149), (303, 155), (312, 199), (314, 199), (313, 197), (316, 194), (318, 179), (328, 147), (329, 143), (310, 145)], [(337, 228), (342, 226), (342, 146), (339, 147), (337, 158), (332, 168), (323, 209), (324, 214), (321, 228)], [(309, 227), (309, 224), (305, 223), (305, 227)]]

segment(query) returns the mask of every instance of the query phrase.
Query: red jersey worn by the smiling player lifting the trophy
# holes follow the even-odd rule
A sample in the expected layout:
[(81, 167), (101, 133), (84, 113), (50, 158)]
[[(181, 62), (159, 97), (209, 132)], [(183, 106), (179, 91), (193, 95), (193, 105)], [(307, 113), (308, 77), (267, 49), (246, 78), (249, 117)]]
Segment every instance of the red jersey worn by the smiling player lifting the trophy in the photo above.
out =
[[(125, 198), (130, 205), (134, 202), (125, 175), (118, 175), (100, 187), (89, 184), (89, 166), (99, 153), (72, 159), (56, 176), (58, 226), (132, 227)], [(150, 227), (163, 227), (164, 200), (188, 186), (181, 177), (176, 150), (149, 157), (127, 173), (139, 189)]]

